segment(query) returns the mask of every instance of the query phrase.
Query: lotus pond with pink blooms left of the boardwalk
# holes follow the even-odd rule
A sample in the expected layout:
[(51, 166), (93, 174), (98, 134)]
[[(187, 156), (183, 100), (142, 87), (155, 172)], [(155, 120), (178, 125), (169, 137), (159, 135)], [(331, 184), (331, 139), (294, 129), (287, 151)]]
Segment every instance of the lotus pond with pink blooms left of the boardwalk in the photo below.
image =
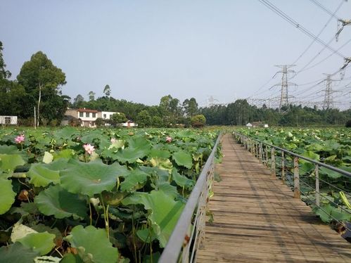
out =
[(217, 135), (1, 129), (1, 262), (157, 262)]

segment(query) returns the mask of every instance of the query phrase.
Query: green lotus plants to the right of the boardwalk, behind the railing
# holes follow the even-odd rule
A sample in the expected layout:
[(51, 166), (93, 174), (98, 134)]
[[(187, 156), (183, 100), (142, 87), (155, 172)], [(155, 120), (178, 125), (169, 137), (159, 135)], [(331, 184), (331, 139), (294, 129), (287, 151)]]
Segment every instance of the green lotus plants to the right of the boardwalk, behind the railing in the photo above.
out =
[[(351, 172), (351, 131), (341, 129), (240, 129), (242, 134), (279, 146), (306, 158), (324, 162)], [(281, 174), (281, 153), (276, 150), (276, 172)], [(293, 186), (293, 158), (286, 156), (285, 170), (287, 184)], [(289, 175), (290, 174), (290, 175)], [(314, 211), (324, 222), (333, 218), (340, 221), (351, 221), (351, 178), (333, 172), (326, 167), (319, 167), (319, 187), (321, 207), (315, 203), (315, 167), (311, 162), (300, 160), (300, 191), (302, 199), (314, 207)], [(339, 205), (343, 209), (337, 207)]]

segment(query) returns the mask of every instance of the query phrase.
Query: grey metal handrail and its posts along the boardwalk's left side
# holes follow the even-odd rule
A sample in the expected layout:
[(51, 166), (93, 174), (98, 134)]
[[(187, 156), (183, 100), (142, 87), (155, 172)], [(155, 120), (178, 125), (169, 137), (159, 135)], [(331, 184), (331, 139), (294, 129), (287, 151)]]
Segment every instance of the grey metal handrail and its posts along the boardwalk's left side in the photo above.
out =
[[(215, 146), (213, 146), (212, 151), (210, 153), (210, 156), (208, 157), (208, 160), (205, 162), (205, 165), (203, 166), (203, 169), (200, 173), (200, 176), (198, 177), (198, 180), (196, 181), (196, 184), (193, 188), (193, 191), (191, 191), (191, 194), (186, 202), (186, 205), (184, 207), (183, 212), (181, 212), (181, 215), (178, 219), (178, 222), (176, 226), (174, 227), (172, 234), (170, 236), (170, 239), (167, 242), (167, 245), (165, 246), (165, 249), (162, 252), (162, 255), (159, 259), (158, 262), (164, 262), (164, 263), (175, 263), (178, 262), (179, 255), (181, 255), (181, 248), (184, 250), (190, 249), (190, 242), (189, 240), (192, 238), (193, 235), (190, 237), (187, 235), (187, 231), (189, 227), (191, 226), (191, 222), (193, 219), (194, 212), (196, 210), (196, 207), (198, 207), (198, 211), (196, 212), (196, 219), (194, 219), (194, 222), (204, 222), (205, 220), (205, 212), (204, 209), (205, 207), (201, 207), (200, 197), (203, 197), (205, 199), (208, 198), (208, 181), (210, 178), (213, 176), (213, 169), (214, 169), (214, 161), (215, 161), (215, 153), (217, 151), (217, 146), (219, 141), (222, 139), (222, 133), (219, 134), (217, 137), (217, 141), (215, 143)], [(206, 192), (206, 193), (205, 193)], [(203, 202), (207, 205), (207, 200)], [(202, 211), (200, 211), (202, 210)], [(198, 218), (201, 217), (201, 218)], [(193, 226), (195, 229), (195, 226)], [(204, 233), (204, 224), (200, 227), (197, 227), (196, 231), (197, 233), (195, 234), (196, 239), (201, 238), (201, 234), (198, 235), (199, 232)], [(194, 240), (196, 242), (199, 240)], [(186, 244), (184, 246), (184, 243)], [(198, 245), (194, 245), (193, 249), (196, 249)], [(189, 255), (187, 255), (189, 256)], [(196, 259), (196, 256), (194, 257), (194, 252), (191, 253), (191, 260)], [(183, 262), (189, 262), (189, 258), (182, 260)]]

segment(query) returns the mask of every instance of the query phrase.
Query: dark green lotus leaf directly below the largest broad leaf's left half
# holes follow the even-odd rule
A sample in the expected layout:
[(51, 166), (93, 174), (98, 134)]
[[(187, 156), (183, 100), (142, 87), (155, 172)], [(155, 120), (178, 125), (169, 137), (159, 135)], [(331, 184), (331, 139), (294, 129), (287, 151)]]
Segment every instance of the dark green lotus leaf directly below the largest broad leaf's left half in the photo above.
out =
[(57, 219), (65, 217), (84, 218), (87, 202), (75, 193), (66, 191), (59, 185), (51, 186), (39, 193), (34, 199), (40, 212), (53, 215)]

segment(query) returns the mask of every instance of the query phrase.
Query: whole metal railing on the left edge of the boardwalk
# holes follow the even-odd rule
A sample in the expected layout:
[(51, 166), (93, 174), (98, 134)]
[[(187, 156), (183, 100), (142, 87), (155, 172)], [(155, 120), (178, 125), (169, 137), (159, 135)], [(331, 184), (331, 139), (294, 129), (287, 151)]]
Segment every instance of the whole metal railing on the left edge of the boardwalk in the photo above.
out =
[(212, 188), (215, 172), (215, 154), (222, 139), (219, 134), (215, 146), (191, 191), (172, 235), (162, 252), (159, 262), (194, 262), (196, 252), (205, 237), (205, 217), (208, 207), (208, 196)]

